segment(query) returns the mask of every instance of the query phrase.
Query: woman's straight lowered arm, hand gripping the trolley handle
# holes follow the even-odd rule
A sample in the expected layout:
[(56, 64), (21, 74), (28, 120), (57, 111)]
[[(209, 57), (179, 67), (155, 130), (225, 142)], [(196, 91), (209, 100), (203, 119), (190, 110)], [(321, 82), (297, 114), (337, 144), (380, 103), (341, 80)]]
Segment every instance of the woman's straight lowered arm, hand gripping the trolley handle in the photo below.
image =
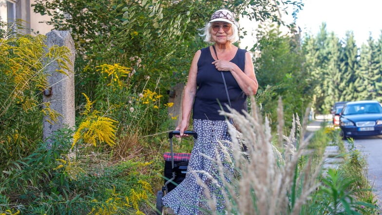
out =
[(178, 126), (175, 128), (175, 130), (180, 131), (180, 136), (175, 136), (175, 137), (183, 136), (184, 131), (187, 130), (189, 127), (192, 105), (196, 95), (196, 74), (198, 72), (197, 63), (200, 58), (200, 54), (201, 54), (201, 51), (198, 50), (195, 53), (191, 62), (189, 77), (183, 92), (182, 120), (180, 121)]

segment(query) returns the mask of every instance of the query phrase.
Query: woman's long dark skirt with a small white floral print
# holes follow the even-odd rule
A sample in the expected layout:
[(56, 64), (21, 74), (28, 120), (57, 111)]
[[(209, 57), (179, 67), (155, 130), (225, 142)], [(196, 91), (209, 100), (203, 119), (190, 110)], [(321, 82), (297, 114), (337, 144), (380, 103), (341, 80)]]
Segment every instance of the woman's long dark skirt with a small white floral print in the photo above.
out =
[[(176, 215), (203, 215), (215, 210), (224, 213), (222, 178), (229, 181), (233, 173), (227, 122), (194, 119), (193, 129), (198, 138), (194, 141), (186, 177), (162, 198), (163, 205), (172, 208)], [(223, 176), (219, 174), (217, 163), (225, 169)]]

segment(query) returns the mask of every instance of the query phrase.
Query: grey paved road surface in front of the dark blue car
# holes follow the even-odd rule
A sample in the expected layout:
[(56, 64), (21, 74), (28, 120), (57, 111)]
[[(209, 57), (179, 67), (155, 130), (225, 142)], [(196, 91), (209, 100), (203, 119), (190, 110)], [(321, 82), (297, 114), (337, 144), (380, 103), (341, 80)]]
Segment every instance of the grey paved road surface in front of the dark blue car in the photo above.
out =
[(356, 137), (355, 147), (362, 152), (367, 161), (367, 178), (382, 205), (382, 136)]

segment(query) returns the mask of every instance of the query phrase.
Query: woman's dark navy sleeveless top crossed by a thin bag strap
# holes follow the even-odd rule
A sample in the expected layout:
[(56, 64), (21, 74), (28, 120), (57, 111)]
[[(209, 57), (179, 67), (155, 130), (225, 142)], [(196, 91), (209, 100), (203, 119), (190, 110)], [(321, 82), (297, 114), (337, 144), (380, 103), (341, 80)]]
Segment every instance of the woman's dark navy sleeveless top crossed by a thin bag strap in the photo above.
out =
[[(209, 120), (225, 120), (224, 116), (219, 115), (219, 110), (229, 112), (226, 104), (229, 106), (226, 90), (224, 88), (221, 71), (215, 68), (212, 64), (210, 47), (201, 49), (201, 55), (198, 60), (198, 72), (196, 76), (196, 96), (193, 103), (194, 119), (209, 119)], [(238, 49), (236, 55), (230, 62), (236, 64), (244, 71), (246, 50)], [(231, 100), (232, 108), (242, 113), (242, 110), (247, 111), (247, 96), (239, 87), (239, 84), (233, 78), (232, 74), (223, 72), (226, 79), (229, 99)]]

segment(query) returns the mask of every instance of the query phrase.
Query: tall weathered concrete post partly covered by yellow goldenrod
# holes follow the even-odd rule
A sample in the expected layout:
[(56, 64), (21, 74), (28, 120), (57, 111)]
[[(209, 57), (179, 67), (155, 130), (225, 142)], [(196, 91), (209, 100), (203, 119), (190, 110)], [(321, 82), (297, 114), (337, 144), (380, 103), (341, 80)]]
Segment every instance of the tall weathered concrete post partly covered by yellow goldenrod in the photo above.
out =
[(74, 84), (74, 60), (75, 60), (75, 45), (69, 31), (53, 30), (46, 34), (46, 45), (48, 48), (53, 45), (66, 46), (71, 52), (69, 59), (72, 63), (69, 70), (62, 74), (57, 72), (58, 64), (53, 62), (47, 66), (45, 73), (48, 75), (48, 83), (50, 88), (44, 91), (43, 102), (49, 102), (50, 108), (57, 111), (61, 116), (58, 117), (58, 122), (51, 124), (44, 117), (43, 120), (43, 140), (51, 142), (52, 134), (61, 128), (75, 127), (75, 84)]

